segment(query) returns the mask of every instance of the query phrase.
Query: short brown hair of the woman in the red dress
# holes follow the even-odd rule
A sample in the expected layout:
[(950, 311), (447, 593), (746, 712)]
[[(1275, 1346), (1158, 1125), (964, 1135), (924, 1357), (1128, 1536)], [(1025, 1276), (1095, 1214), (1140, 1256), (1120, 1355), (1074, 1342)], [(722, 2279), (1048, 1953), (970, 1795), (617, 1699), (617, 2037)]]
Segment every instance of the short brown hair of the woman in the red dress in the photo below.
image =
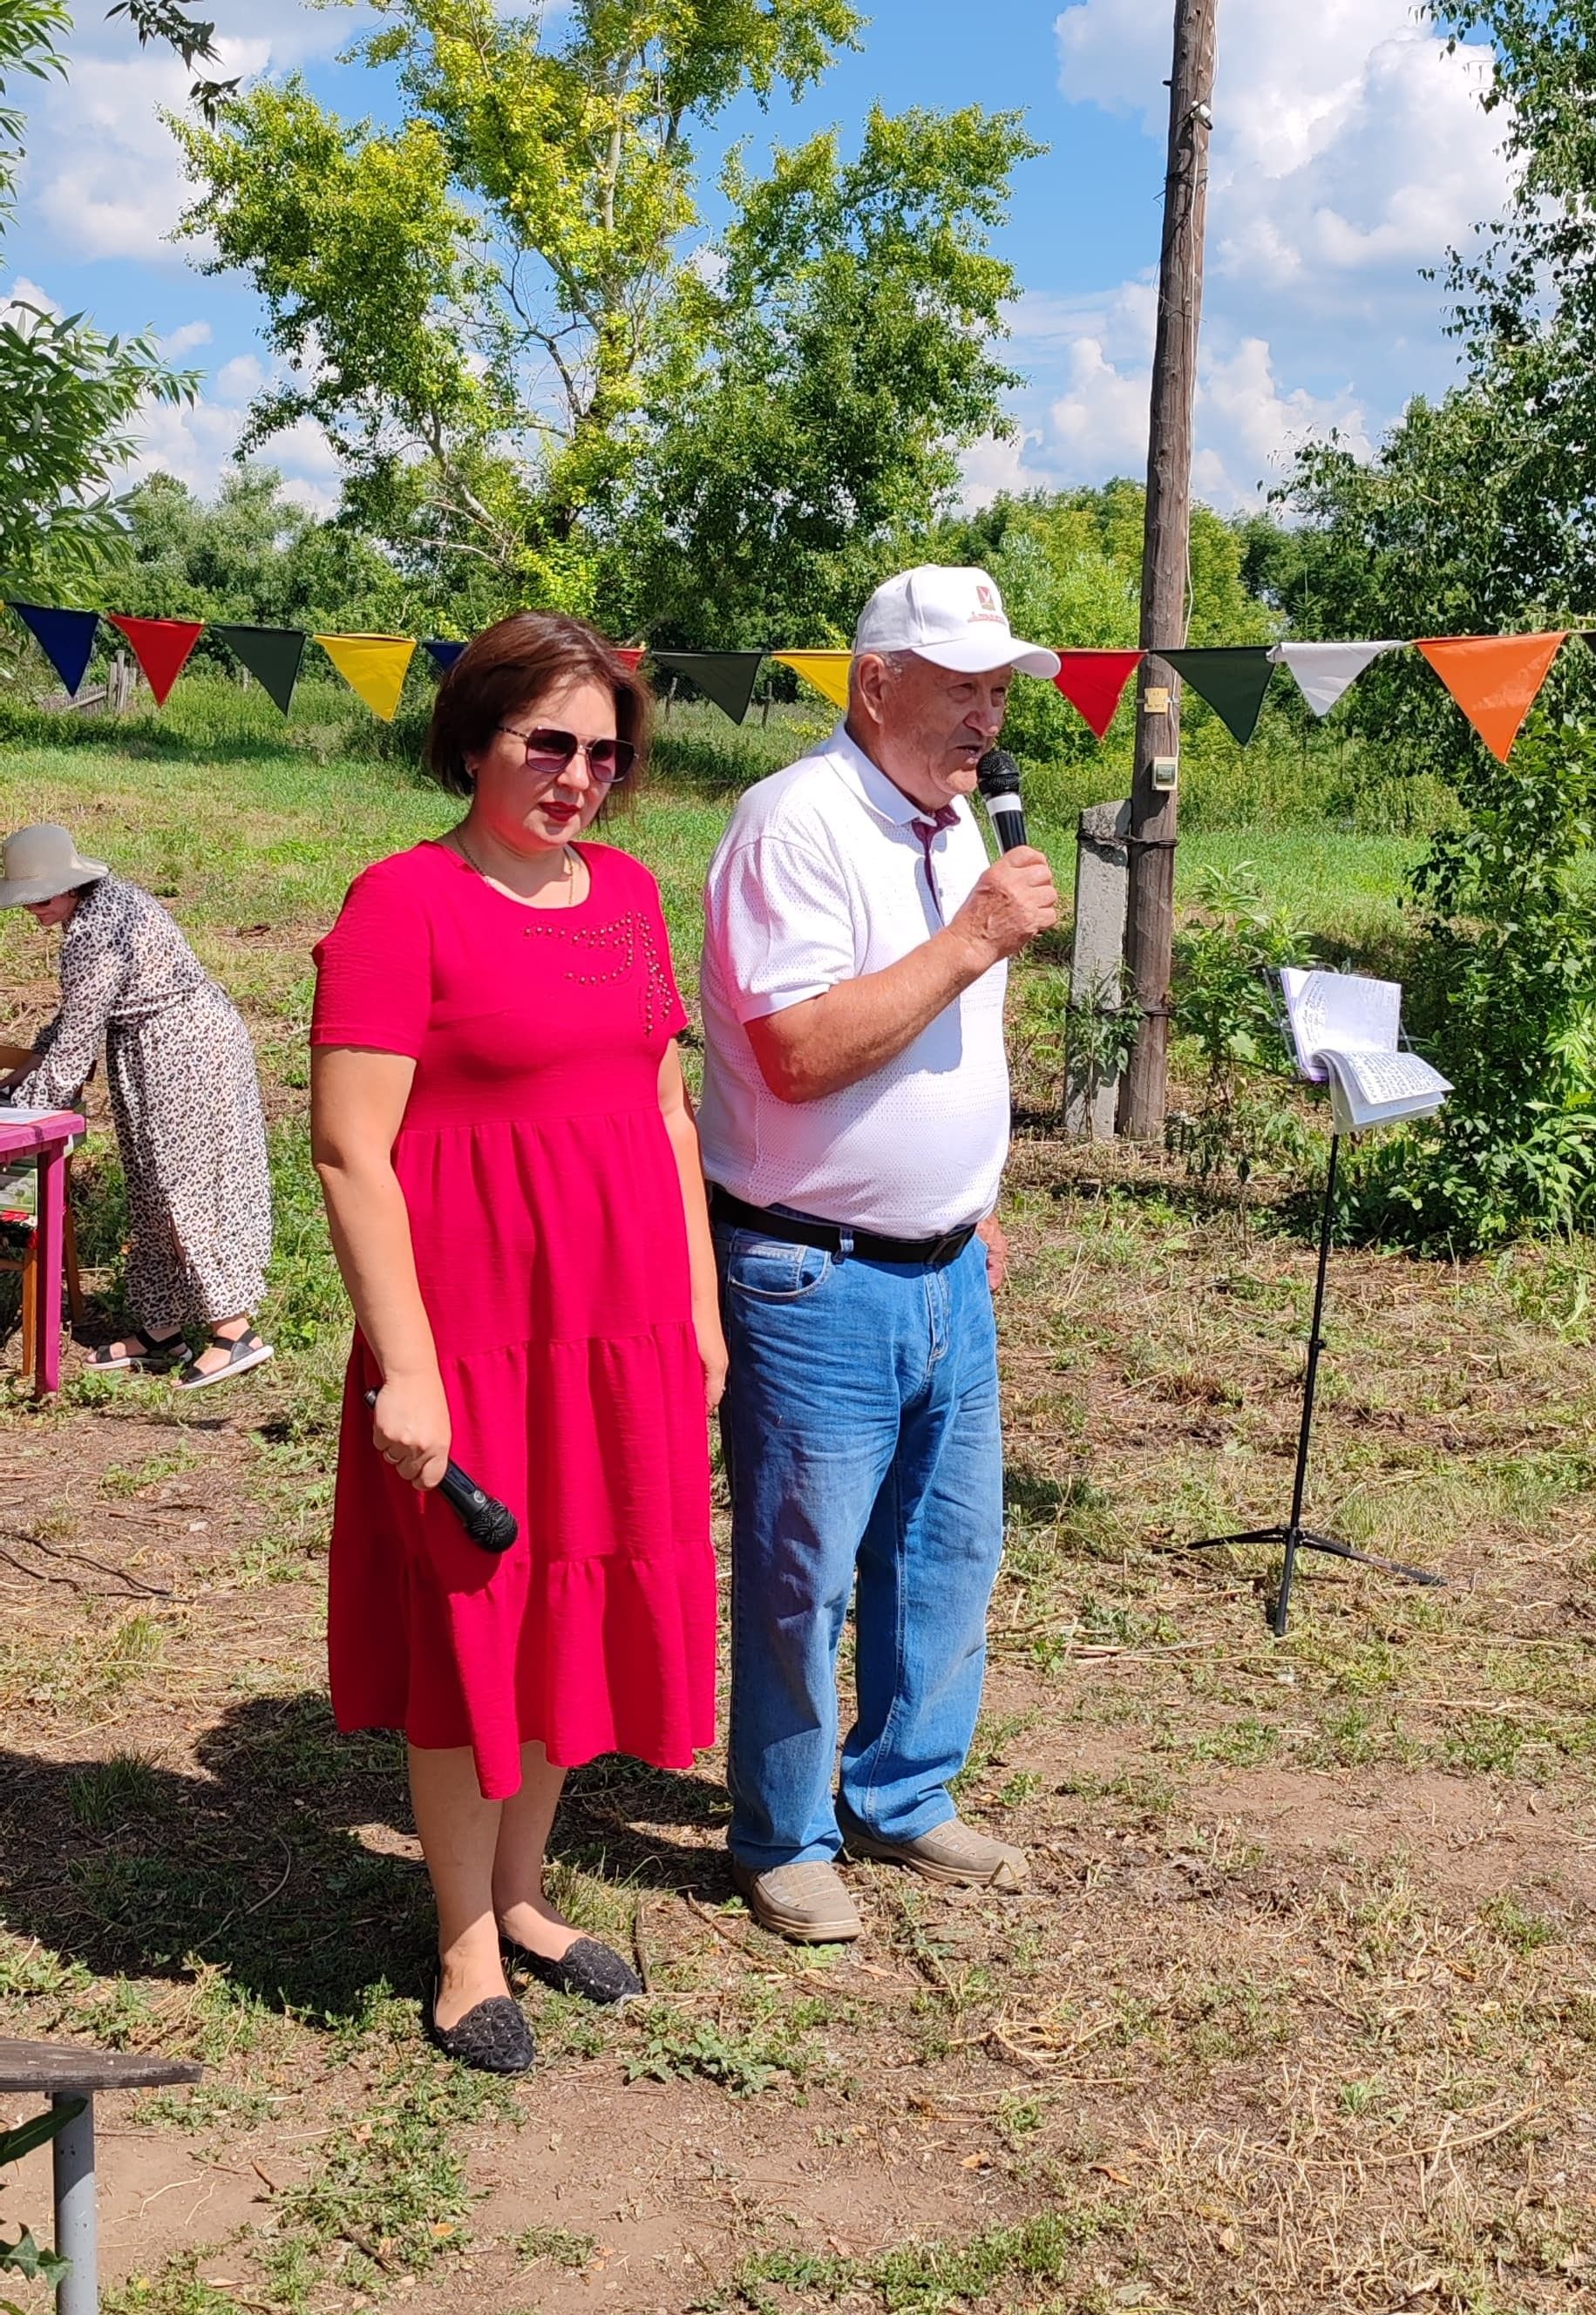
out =
[(637, 750), (630, 776), (612, 792), (625, 796), (649, 762), (653, 692), (595, 627), (558, 611), (512, 611), (466, 644), (438, 685), (426, 727), (426, 769), (440, 787), (468, 796), (475, 780), (466, 757), (486, 755), (503, 722), (535, 706), (556, 683), (581, 676), (607, 685), (616, 701), (616, 734)]

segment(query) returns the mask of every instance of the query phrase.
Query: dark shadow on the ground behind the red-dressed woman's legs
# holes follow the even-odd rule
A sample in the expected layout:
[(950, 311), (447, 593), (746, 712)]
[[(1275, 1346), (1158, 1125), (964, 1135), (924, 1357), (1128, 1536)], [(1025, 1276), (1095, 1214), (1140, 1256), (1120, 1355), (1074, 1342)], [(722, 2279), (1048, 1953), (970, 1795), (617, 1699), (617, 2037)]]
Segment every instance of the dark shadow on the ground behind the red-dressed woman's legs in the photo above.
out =
[[(208, 1963), (273, 2009), (338, 2021), (419, 1982), (433, 1917), (405, 1854), (403, 1748), (341, 1736), (327, 1699), (227, 1711), (183, 1773), (148, 1759), (0, 1752), (0, 1917), (97, 1977)], [(723, 1852), (669, 1829), (723, 1822), (702, 1778), (600, 1759), (572, 1773), (558, 1861), (621, 1889), (730, 1894)], [(639, 1824), (646, 1831), (639, 1831)]]

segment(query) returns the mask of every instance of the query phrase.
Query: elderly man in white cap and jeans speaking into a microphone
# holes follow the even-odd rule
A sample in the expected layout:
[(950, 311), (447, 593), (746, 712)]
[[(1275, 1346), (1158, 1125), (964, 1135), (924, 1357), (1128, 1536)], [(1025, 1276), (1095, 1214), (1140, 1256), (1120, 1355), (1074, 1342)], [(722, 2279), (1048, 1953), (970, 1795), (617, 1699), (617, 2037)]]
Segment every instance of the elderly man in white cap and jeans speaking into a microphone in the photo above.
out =
[(859, 620), (848, 720), (748, 789), (709, 868), (730, 1845), (755, 1919), (804, 1942), (859, 1935), (843, 1845), (938, 1882), (1017, 1887), (1026, 1868), (947, 1792), (1003, 1544), (1005, 961), (1059, 912), (1040, 852), (987, 866), (966, 801), (1015, 669), (1059, 660), (1010, 634), (984, 572), (889, 579)]

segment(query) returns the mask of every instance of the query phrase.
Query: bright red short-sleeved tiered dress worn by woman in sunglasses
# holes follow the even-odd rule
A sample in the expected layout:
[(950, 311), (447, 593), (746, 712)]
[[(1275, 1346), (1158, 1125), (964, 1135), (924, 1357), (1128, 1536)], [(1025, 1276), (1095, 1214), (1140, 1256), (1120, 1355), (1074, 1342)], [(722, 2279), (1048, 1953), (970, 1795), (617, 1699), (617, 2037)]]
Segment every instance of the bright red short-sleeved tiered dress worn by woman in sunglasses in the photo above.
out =
[(521, 1526), (466, 1537), (371, 1442), (354, 1336), (329, 1570), (338, 1727), (470, 1746), (486, 1799), (551, 1762), (713, 1743), (709, 1426), (658, 1076), (686, 1026), (660, 894), (584, 845), (570, 910), (442, 845), (378, 861), (315, 951), (313, 1044), (415, 1060), (394, 1141), (454, 1461)]

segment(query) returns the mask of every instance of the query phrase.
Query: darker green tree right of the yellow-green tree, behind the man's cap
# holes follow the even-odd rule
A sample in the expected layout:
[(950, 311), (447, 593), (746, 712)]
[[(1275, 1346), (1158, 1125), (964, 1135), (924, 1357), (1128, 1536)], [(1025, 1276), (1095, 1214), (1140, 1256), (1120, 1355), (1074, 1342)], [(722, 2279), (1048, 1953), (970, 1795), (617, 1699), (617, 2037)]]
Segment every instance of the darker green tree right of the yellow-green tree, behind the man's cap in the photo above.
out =
[[(734, 157), (709, 296), (711, 357), (639, 454), (616, 593), (674, 644), (843, 644), (871, 586), (915, 560), (957, 444), (1015, 384), (991, 359), (1012, 273), (987, 250), (1035, 146), (1019, 116), (873, 109)], [(707, 579), (713, 576), (713, 586)]]

